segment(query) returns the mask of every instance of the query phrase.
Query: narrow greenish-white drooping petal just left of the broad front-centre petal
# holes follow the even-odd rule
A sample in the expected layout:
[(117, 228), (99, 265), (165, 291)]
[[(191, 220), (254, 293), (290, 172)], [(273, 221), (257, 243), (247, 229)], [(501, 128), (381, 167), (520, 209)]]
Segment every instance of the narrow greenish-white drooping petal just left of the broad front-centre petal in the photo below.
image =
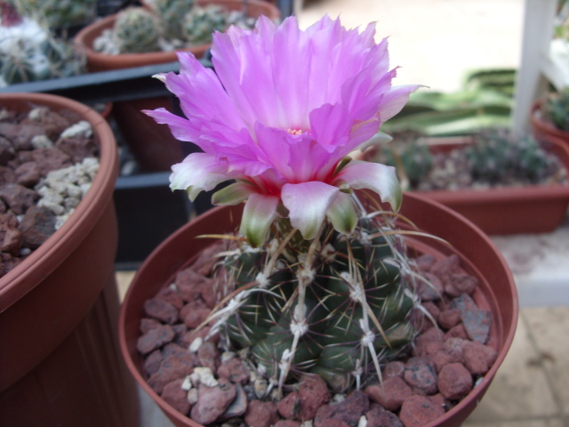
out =
[(239, 232), (252, 247), (265, 243), (270, 224), (276, 218), (278, 197), (253, 193), (245, 203)]

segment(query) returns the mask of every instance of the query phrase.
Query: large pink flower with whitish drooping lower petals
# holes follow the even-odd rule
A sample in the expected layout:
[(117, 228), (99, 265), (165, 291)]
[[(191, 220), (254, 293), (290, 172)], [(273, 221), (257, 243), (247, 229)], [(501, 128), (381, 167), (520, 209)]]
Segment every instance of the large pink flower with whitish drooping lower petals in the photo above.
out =
[[(307, 239), (327, 217), (349, 233), (357, 214), (351, 189), (372, 189), (395, 209), (401, 189), (386, 165), (342, 161), (395, 116), (417, 85), (392, 86), (387, 39), (374, 25), (361, 33), (325, 16), (306, 30), (294, 17), (276, 26), (261, 17), (253, 30), (215, 33), (212, 69), (178, 53), (180, 74), (158, 77), (180, 98), (188, 119), (147, 111), (180, 141), (196, 143), (172, 166), (171, 188), (202, 190), (236, 180), (214, 204), (246, 200), (241, 232), (252, 246), (266, 238), (277, 212)], [(284, 207), (284, 209), (283, 209)]]

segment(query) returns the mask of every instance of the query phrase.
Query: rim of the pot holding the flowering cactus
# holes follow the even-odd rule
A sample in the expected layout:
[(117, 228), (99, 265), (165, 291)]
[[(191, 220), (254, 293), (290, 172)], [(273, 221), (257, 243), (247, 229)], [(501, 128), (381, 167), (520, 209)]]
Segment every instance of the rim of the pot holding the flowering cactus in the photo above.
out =
[[(464, 218), (460, 214), (455, 213), (452, 209), (446, 207), (445, 205), (441, 205), (440, 203), (433, 201), (428, 197), (420, 196), (417, 195), (416, 193), (405, 193), (404, 206), (405, 206), (405, 200), (410, 200), (410, 199), (413, 200), (413, 203), (415, 204), (419, 203), (419, 205), (421, 205), (421, 221), (424, 221), (426, 223), (429, 223), (431, 221), (429, 219), (429, 212), (426, 215), (423, 215), (425, 213), (425, 210), (427, 211), (437, 210), (437, 212), (440, 212), (440, 214), (442, 214), (446, 220), (453, 219), (454, 221), (458, 221), (459, 223), (461, 223), (462, 228), (465, 228), (465, 230), (468, 231), (468, 233), (466, 233), (468, 234), (468, 237), (465, 236), (465, 238), (468, 238), (469, 242), (472, 241), (472, 239), (475, 239), (482, 242), (482, 244), (485, 245), (487, 251), (485, 251), (485, 254), (483, 256), (487, 260), (490, 260), (490, 255), (492, 255), (492, 257), (494, 258), (494, 262), (501, 266), (501, 273), (503, 273), (505, 281), (508, 282), (507, 285), (505, 285), (505, 287), (507, 287), (507, 291), (509, 291), (509, 294), (507, 295), (507, 300), (508, 302), (511, 303), (509, 309), (506, 310), (508, 311), (508, 313), (501, 312), (501, 310), (495, 310), (498, 309), (498, 306), (495, 304), (492, 307), (494, 319), (501, 320), (498, 322), (500, 325), (495, 326), (498, 328), (499, 334), (501, 334), (501, 339), (498, 342), (499, 346), (498, 357), (494, 362), (493, 367), (490, 368), (490, 370), (483, 377), (482, 381), (480, 383), (477, 383), (476, 387), (472, 391), (470, 391), (467, 397), (462, 399), (461, 402), (456, 407), (453, 407), (451, 410), (446, 412), (445, 415), (440, 416), (439, 418), (437, 418), (436, 421), (428, 423), (424, 427), (434, 427), (438, 425), (449, 426), (449, 425), (454, 425), (451, 420), (455, 421), (454, 417), (457, 415), (458, 416), (463, 415), (464, 414), (463, 411), (468, 411), (466, 415), (469, 415), (471, 410), (477, 405), (477, 400), (481, 399), (482, 396), (484, 395), (485, 391), (487, 390), (488, 386), (493, 380), (493, 376), (496, 374), (496, 371), (501, 366), (501, 363), (506, 357), (509, 347), (511, 346), (511, 343), (514, 339), (514, 334), (516, 332), (516, 327), (517, 327), (517, 317), (519, 310), (517, 302), (517, 289), (514, 278), (511, 274), (511, 271), (509, 270), (508, 264), (501, 255), (500, 251), (496, 248), (496, 246), (493, 245), (493, 242), (485, 235), (485, 233), (482, 230), (480, 230), (473, 222), (470, 222), (468, 219)], [(124, 302), (121, 307), (121, 312), (119, 316), (119, 341), (121, 345), (121, 351), (123, 353), (123, 357), (126, 361), (126, 364), (129, 367), (131, 374), (140, 384), (140, 387), (159, 404), (161, 409), (172, 420), (172, 422), (179, 423), (177, 425), (192, 425), (194, 427), (201, 426), (201, 424), (196, 423), (188, 416), (180, 414), (149, 387), (146, 379), (140, 373), (139, 367), (131, 357), (130, 347), (132, 346), (132, 340), (130, 342), (127, 341), (125, 329), (126, 329), (126, 318), (128, 316), (132, 317), (132, 314), (127, 313), (127, 311), (135, 310), (133, 307), (131, 307), (132, 304), (131, 300), (133, 298), (132, 295), (136, 293), (136, 287), (139, 287), (136, 286), (136, 284), (137, 282), (143, 280), (142, 278), (146, 275), (147, 270), (152, 270), (152, 265), (154, 263), (168, 262), (169, 265), (172, 266), (173, 264), (178, 262), (177, 268), (173, 268), (173, 270), (171, 269), (172, 270), (171, 274), (174, 274), (177, 270), (180, 270), (180, 268), (183, 267), (183, 261), (182, 261), (183, 259), (180, 259), (180, 255), (174, 254), (173, 257), (176, 258), (176, 260), (172, 260), (172, 255), (169, 256), (168, 254), (165, 254), (166, 248), (170, 246), (173, 241), (179, 238), (179, 236), (182, 234), (182, 230), (186, 230), (188, 227), (191, 226), (190, 224), (192, 223), (196, 224), (196, 222), (197, 225), (199, 226), (200, 220), (203, 219), (206, 215), (219, 213), (221, 209), (226, 209), (226, 208), (228, 208), (228, 206), (216, 207), (213, 208), (211, 211), (208, 211), (205, 214), (200, 215), (200, 217), (194, 220), (194, 222), (188, 223), (184, 227), (180, 228), (178, 231), (174, 232), (170, 238), (164, 240), (164, 242), (160, 246), (157, 246), (155, 251), (148, 256), (147, 260), (142, 264), (140, 269), (137, 271), (135, 277), (132, 280), (132, 284), (129, 287), (124, 297)], [(231, 210), (232, 214), (238, 212), (236, 210), (238, 209), (238, 207), (230, 206), (230, 208), (232, 209)], [(452, 233), (453, 225), (450, 225), (447, 222), (448, 221), (445, 221), (445, 224), (441, 226), (442, 230), (446, 229), (448, 230), (449, 233)], [(424, 228), (424, 226), (421, 228)], [(463, 261), (469, 262), (468, 261), (469, 256), (465, 254), (464, 250), (459, 250), (457, 252), (461, 254)], [(474, 269), (477, 270), (476, 267), (474, 267)], [(164, 283), (161, 284), (160, 286), (164, 286)], [(139, 307), (138, 311), (140, 312), (140, 310), (141, 307)], [(464, 416), (464, 418), (466, 418), (466, 415)]]

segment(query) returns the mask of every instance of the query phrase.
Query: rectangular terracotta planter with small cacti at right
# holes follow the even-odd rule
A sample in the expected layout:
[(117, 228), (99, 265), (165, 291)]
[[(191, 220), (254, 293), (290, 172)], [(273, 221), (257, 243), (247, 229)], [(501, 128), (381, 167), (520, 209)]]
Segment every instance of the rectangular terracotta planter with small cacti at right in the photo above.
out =
[[(569, 145), (557, 138), (541, 142), (569, 172)], [(449, 152), (464, 143), (432, 143), (433, 153)], [(499, 189), (413, 191), (429, 197), (474, 222), (487, 234), (547, 233), (565, 220), (569, 185), (529, 185)]]

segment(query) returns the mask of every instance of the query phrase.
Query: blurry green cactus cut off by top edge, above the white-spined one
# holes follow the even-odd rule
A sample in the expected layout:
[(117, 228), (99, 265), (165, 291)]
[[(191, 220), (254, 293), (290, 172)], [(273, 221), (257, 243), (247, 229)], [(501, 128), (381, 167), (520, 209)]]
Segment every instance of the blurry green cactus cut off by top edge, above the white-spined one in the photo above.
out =
[(85, 24), (96, 16), (97, 0), (14, 0), (21, 14), (49, 28)]

